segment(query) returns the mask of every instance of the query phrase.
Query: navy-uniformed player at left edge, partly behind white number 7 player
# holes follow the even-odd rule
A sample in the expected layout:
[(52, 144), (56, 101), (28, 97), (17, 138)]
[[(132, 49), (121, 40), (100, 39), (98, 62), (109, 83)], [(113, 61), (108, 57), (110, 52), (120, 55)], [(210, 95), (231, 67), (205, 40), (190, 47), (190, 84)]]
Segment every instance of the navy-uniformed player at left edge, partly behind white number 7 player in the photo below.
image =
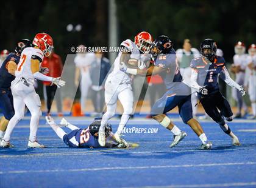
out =
[(0, 119), (0, 139), (4, 136), (9, 120), (14, 115), (11, 82), (15, 79), (15, 70), (20, 61), (21, 52), (31, 46), (32, 42), (29, 39), (18, 41), (15, 52), (10, 53), (0, 67), (0, 109), (4, 114)]

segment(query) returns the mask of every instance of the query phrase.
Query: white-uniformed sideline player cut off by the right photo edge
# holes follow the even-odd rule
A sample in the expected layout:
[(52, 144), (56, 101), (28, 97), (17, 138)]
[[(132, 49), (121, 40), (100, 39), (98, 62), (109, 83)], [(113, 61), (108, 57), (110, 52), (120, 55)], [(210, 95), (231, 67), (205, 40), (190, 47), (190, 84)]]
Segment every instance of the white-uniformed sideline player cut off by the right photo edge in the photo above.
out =
[(246, 78), (244, 86), (248, 90), (249, 98), (252, 103), (252, 119), (256, 119), (256, 45), (250, 45), (247, 57)]

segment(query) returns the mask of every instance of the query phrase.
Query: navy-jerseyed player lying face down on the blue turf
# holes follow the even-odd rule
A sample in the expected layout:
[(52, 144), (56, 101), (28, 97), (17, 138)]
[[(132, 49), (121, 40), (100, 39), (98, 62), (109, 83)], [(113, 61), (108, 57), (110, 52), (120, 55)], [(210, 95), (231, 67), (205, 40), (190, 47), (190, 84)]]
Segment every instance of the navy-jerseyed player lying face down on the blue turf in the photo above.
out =
[[(54, 119), (51, 116), (46, 116), (45, 119), (59, 138), (62, 139), (69, 147), (102, 147), (99, 145), (98, 141), (99, 127), (101, 126), (101, 121), (99, 120), (93, 121), (93, 123), (85, 129), (80, 129), (73, 124), (68, 123), (65, 118), (62, 118), (60, 125), (72, 130), (70, 133), (66, 133), (54, 122)], [(122, 139), (122, 143), (119, 144), (112, 133), (112, 126), (110, 124), (105, 126), (105, 138), (106, 144), (104, 147), (126, 148), (132, 146), (132, 144), (127, 144), (124, 139)]]

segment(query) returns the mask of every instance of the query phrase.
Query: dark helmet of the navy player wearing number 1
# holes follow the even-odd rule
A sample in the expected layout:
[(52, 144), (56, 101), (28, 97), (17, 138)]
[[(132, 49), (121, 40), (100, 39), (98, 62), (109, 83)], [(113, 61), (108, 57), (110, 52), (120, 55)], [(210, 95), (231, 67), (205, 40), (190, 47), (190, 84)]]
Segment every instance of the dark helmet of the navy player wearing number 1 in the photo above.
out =
[(200, 52), (204, 58), (213, 62), (217, 51), (216, 42), (213, 39), (205, 39), (200, 45)]

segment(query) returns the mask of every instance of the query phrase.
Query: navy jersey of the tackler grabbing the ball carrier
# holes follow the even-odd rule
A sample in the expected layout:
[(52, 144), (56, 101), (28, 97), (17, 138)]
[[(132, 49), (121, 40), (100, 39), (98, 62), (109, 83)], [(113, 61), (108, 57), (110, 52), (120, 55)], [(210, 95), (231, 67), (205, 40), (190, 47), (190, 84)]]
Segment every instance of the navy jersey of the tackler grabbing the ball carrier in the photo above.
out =
[(183, 78), (180, 74), (179, 65), (176, 62), (176, 52), (174, 49), (168, 54), (158, 55), (154, 65), (166, 69), (165, 72), (160, 73), (160, 76), (163, 78), (167, 90), (176, 95), (191, 94), (190, 87), (182, 82)]

